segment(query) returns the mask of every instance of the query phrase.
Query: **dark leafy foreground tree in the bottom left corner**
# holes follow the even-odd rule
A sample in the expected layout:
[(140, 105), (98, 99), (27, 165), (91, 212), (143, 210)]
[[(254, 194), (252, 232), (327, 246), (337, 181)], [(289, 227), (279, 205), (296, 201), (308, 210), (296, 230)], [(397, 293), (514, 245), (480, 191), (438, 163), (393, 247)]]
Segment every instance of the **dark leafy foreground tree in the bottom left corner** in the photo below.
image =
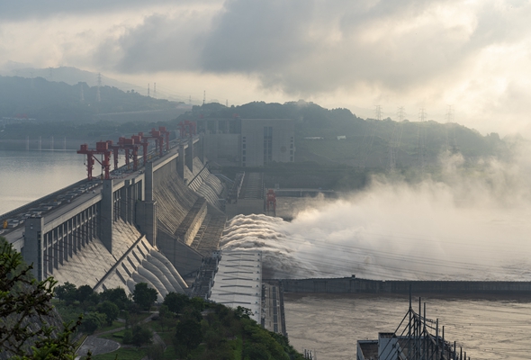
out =
[(72, 360), (75, 347), (70, 335), (80, 322), (73, 326), (49, 325), (58, 316), (50, 303), (57, 282), (53, 278), (36, 281), (31, 267), (0, 237), (0, 355)]

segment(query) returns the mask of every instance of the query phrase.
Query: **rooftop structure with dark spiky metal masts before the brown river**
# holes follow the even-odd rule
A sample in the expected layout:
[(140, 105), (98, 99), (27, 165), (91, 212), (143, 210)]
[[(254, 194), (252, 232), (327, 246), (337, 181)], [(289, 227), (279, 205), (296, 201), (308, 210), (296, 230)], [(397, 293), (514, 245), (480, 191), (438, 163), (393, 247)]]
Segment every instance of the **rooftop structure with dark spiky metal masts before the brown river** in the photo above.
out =
[(426, 315), (426, 303), (422, 311), (410, 309), (394, 332), (381, 332), (377, 340), (357, 341), (357, 360), (467, 360), (463, 348), (445, 338), (445, 327), (439, 328), (439, 320)]

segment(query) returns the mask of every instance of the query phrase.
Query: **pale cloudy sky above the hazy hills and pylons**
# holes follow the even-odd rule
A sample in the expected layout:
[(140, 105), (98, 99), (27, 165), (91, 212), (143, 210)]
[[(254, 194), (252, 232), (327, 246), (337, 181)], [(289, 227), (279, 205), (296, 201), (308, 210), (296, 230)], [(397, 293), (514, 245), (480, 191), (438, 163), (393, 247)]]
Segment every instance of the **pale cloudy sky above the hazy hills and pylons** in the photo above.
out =
[[(531, 2), (0, 2), (0, 67), (78, 67), (194, 103), (304, 99), (531, 138)], [(11, 63), (13, 64), (13, 63)], [(103, 84), (104, 85), (104, 84)]]

